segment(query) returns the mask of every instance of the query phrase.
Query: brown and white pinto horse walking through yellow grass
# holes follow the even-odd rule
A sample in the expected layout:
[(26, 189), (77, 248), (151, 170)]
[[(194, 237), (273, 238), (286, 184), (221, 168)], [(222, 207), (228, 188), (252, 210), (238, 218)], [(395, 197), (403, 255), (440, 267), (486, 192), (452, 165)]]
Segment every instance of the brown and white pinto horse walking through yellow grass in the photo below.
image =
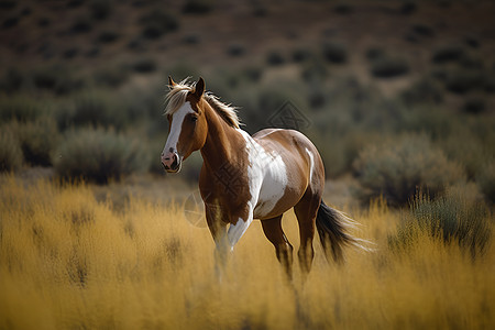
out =
[(329, 261), (342, 263), (345, 245), (366, 250), (364, 240), (349, 233), (356, 222), (323, 202), (323, 162), (308, 138), (286, 129), (265, 129), (251, 136), (240, 128), (237, 108), (205, 91), (201, 77), (197, 82), (168, 77), (168, 138), (161, 161), (166, 172), (178, 173), (183, 162), (200, 151), (199, 191), (216, 256), (223, 258), (233, 251), (258, 219), (290, 277), (293, 245), (282, 228), (282, 217), (290, 208), (299, 223), (297, 254), (304, 274), (310, 272), (315, 256), (315, 228)]

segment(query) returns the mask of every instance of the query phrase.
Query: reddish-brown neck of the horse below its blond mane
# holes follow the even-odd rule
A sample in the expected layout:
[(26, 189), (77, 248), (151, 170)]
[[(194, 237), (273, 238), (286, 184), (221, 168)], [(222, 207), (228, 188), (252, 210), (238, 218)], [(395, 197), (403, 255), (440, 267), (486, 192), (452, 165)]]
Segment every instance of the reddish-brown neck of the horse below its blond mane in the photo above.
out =
[(208, 121), (208, 135), (201, 148), (201, 156), (207, 167), (217, 170), (237, 158), (240, 151), (239, 144), (243, 141), (243, 136), (239, 130), (220, 118), (209, 105), (206, 105), (205, 111)]

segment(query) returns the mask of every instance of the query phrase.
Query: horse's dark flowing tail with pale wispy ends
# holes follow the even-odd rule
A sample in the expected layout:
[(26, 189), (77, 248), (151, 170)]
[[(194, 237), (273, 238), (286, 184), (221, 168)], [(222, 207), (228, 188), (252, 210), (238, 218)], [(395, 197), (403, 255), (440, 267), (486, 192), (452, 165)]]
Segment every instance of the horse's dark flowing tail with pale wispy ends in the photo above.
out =
[(331, 255), (337, 263), (343, 263), (343, 248), (346, 245), (373, 251), (365, 246), (372, 244), (371, 242), (354, 238), (348, 232), (349, 229), (355, 228), (358, 222), (327, 206), (323, 200), (318, 209), (316, 226), (328, 261)]

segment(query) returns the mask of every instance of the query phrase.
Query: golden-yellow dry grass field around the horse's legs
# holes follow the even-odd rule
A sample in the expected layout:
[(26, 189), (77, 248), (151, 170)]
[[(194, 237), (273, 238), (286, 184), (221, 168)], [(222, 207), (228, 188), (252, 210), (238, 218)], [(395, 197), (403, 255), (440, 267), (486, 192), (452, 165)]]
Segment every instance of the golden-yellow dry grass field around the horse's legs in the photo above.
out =
[[(397, 212), (352, 210), (372, 254), (284, 280), (260, 223), (240, 241), (219, 280), (206, 228), (173, 207), (98, 202), (90, 188), (1, 180), (0, 329), (403, 329), (495, 327), (495, 249), (472, 262), (427, 237), (408, 253), (387, 235)], [(285, 217), (298, 246), (293, 213)]]

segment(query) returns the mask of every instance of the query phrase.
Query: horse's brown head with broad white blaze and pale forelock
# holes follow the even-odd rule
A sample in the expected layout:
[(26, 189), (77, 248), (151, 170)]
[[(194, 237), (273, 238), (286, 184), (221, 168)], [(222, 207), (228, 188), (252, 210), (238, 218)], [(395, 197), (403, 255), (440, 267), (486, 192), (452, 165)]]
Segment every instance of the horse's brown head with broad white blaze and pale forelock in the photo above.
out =
[(193, 87), (185, 87), (168, 77), (168, 139), (162, 152), (162, 164), (167, 172), (176, 173), (183, 161), (206, 142), (208, 125), (201, 106), (205, 80), (199, 78)]

